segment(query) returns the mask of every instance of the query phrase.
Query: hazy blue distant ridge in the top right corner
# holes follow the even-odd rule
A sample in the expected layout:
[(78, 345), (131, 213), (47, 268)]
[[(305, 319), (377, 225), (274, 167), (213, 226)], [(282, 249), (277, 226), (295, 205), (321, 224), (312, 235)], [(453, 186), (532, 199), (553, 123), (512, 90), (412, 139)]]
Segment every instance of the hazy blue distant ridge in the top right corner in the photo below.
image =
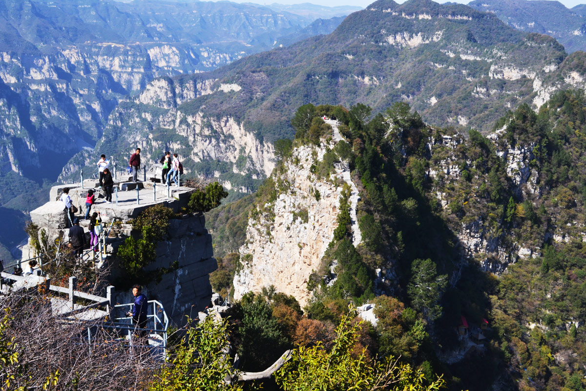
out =
[(568, 53), (586, 50), (584, 5), (568, 9), (549, 0), (475, 0), (468, 6), (492, 12), (517, 30), (552, 36)]

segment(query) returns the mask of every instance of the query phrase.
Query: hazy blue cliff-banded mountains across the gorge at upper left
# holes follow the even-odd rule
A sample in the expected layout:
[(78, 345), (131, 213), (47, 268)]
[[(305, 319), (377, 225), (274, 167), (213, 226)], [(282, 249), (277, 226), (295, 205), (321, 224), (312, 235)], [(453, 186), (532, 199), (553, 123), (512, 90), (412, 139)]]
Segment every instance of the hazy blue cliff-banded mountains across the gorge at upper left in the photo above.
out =
[[(340, 21), (230, 2), (1, 0), (2, 215), (20, 226), (42, 203), (39, 188), (155, 77), (215, 69)], [(9, 248), (24, 236), (5, 231)]]

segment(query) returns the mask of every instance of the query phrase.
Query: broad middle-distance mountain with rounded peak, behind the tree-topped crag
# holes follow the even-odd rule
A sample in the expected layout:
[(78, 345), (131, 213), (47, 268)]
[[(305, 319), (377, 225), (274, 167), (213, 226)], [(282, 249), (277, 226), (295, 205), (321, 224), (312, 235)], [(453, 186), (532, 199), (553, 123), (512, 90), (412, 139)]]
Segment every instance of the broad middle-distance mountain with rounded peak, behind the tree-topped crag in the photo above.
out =
[[(584, 84), (584, 53), (519, 32), (492, 13), (428, 0), (380, 0), (334, 32), (248, 56), (213, 72), (152, 81), (110, 117), (97, 149), (122, 159), (138, 143), (146, 159), (176, 149), (192, 172), (254, 191), (271, 172), (272, 142), (292, 136), (306, 103), (406, 101), (424, 120), (486, 132), (522, 103)], [(147, 142), (145, 142), (147, 141)], [(62, 178), (77, 175), (82, 152)]]

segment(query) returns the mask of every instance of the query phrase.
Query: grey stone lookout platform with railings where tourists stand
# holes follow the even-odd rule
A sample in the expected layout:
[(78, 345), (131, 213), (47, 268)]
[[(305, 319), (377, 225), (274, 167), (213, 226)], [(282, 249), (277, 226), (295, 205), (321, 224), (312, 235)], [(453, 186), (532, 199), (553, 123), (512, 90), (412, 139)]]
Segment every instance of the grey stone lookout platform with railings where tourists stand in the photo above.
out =
[[(86, 179), (81, 183), (70, 183), (53, 186), (50, 190), (49, 201), (45, 205), (30, 212), (30, 218), (43, 231), (48, 243), (57, 243), (62, 238), (61, 245), (69, 242), (69, 218), (64, 210), (64, 204), (59, 199), (64, 188), (69, 188), (69, 196), (77, 208), (75, 217), (80, 219), (80, 226), (86, 232), (89, 243), (89, 220), (84, 220), (86, 211), (86, 195), (88, 189), (94, 189), (96, 203), (91, 207), (91, 213), (100, 212), (104, 233), (100, 242), (100, 262), (110, 266), (111, 278), (124, 275), (114, 257), (118, 247), (130, 237), (138, 237), (139, 232), (132, 229), (130, 220), (154, 205), (165, 205), (177, 213), (169, 220), (166, 236), (156, 243), (155, 260), (144, 267), (148, 280), (128, 281), (128, 285), (143, 285), (143, 293), (149, 300), (158, 300), (165, 307), (166, 314), (178, 324), (185, 322), (185, 315), (197, 316), (210, 304), (212, 287), (209, 274), (216, 270), (217, 263), (213, 258), (212, 236), (205, 227), (205, 217), (202, 213), (187, 213), (189, 196), (194, 191), (188, 186), (166, 186), (151, 181), (133, 183), (128, 175), (122, 181), (115, 181), (112, 202), (105, 202), (104, 193), (98, 189), (97, 179)], [(138, 191), (137, 191), (138, 189)], [(138, 201), (137, 201), (138, 198)], [(92, 253), (86, 247), (86, 253)], [(25, 245), (22, 251), (22, 267), (25, 261), (37, 257), (33, 246)], [(91, 254), (93, 256), (93, 254)], [(82, 257), (82, 260), (86, 258)], [(89, 260), (89, 257), (88, 257)], [(98, 264), (98, 263), (96, 263)], [(31, 276), (32, 277), (32, 276)], [(130, 289), (116, 290), (117, 302), (132, 302)]]

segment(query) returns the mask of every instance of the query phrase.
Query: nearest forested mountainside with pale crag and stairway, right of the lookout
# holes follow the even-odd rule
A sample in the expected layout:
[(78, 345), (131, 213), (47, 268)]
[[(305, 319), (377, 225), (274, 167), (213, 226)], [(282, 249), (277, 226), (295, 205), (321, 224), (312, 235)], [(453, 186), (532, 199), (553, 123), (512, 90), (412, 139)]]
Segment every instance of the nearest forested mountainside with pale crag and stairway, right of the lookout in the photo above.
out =
[[(295, 140), (280, 145), (256, 200), (239, 206), (247, 236), (240, 254), (219, 259), (214, 288), (229, 293), (235, 276), (235, 294), (244, 283), (263, 295), (267, 281), (299, 301), (311, 291), (315, 328), (370, 300), (379, 306), (364, 332), (372, 352), (443, 373), (450, 389), (582, 390), (583, 91), (560, 91), (537, 114), (523, 105), (488, 137), (425, 124), (406, 104), (369, 114), (360, 104), (299, 108)], [(345, 141), (333, 148), (323, 115), (340, 121)], [(361, 197), (356, 246), (343, 166)], [(226, 213), (228, 231), (241, 224), (230, 208), (212, 216)], [(477, 335), (488, 322), (482, 343), (458, 336), (462, 317)]]

